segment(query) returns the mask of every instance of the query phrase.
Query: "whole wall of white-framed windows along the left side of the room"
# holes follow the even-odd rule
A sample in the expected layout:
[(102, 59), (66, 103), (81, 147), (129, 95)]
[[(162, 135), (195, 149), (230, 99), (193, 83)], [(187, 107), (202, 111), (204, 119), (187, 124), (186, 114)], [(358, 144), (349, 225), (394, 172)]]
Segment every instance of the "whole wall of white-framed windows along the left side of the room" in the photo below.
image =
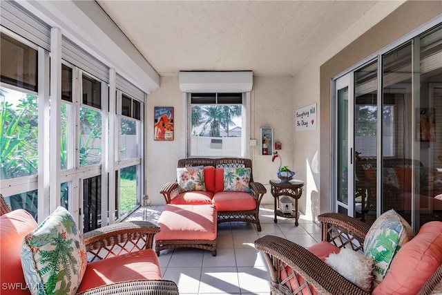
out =
[[(81, 231), (127, 215), (144, 193), (144, 91), (117, 70), (111, 80), (109, 66), (63, 35), (64, 29), (52, 30), (52, 38), (51, 26), (15, 1), (2, 1), (1, 8), (8, 12), (0, 30), (0, 191), (6, 202), (37, 222), (61, 205)], [(59, 70), (50, 68), (51, 44), (61, 50)], [(50, 93), (59, 71), (60, 102)], [(118, 98), (109, 95), (111, 87)], [(122, 89), (128, 94), (123, 99)], [(116, 105), (118, 111), (110, 113)]]

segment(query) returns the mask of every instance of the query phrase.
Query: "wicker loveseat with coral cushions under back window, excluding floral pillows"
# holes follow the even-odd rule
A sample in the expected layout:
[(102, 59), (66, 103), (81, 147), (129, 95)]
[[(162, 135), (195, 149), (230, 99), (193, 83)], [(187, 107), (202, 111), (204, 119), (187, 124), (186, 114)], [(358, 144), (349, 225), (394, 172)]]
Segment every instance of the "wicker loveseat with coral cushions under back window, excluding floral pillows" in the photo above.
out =
[[(267, 192), (259, 182), (253, 182), (250, 175), (250, 192), (223, 191), (223, 168), (252, 168), (251, 160), (244, 158), (186, 158), (178, 160), (177, 168), (186, 166), (204, 166), (206, 191), (181, 192), (177, 181), (167, 182), (160, 193), (166, 204), (214, 204), (218, 214), (218, 223), (229, 221), (250, 222), (261, 231), (259, 209), (262, 197)], [(209, 170), (214, 173), (214, 183), (209, 182)], [(218, 185), (217, 185), (218, 184)], [(220, 187), (221, 186), (221, 187)]]

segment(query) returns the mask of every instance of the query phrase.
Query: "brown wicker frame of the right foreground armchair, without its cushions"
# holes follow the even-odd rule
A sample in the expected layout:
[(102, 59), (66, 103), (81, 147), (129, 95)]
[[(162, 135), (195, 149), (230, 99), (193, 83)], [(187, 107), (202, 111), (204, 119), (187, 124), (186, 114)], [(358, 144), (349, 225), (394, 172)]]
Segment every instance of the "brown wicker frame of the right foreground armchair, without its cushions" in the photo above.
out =
[[(318, 220), (323, 225), (324, 241), (354, 251), (363, 249), (363, 241), (369, 230), (365, 223), (340, 213), (325, 213), (318, 216)], [(256, 240), (255, 246), (265, 254), (269, 265), (271, 294), (311, 294), (311, 289), (316, 289), (318, 294), (371, 294), (340, 276), (323, 260), (294, 242), (277, 236), (264, 236)], [(281, 272), (285, 272), (287, 267), (293, 270), (293, 274), (286, 273), (288, 277), (283, 278)], [(295, 280), (300, 287), (292, 289), (290, 280)], [(437, 293), (441, 289), (442, 265), (423, 285), (419, 294), (441, 294)]]

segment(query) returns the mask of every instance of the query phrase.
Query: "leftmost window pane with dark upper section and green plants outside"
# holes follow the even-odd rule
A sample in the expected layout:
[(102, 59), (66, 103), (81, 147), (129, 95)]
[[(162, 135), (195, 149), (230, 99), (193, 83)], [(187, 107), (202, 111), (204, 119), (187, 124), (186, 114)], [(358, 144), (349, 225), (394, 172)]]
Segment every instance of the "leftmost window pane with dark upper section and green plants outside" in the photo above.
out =
[(3, 32), (0, 37), (0, 188), (13, 210), (26, 209), (37, 220), (38, 53)]

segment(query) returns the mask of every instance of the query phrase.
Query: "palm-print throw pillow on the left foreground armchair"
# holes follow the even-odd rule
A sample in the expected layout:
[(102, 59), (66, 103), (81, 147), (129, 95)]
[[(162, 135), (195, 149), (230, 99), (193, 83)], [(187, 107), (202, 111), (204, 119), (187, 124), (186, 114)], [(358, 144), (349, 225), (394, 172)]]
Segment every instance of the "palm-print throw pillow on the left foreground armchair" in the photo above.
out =
[(21, 265), (31, 294), (75, 294), (86, 260), (83, 238), (63, 207), (23, 239)]

